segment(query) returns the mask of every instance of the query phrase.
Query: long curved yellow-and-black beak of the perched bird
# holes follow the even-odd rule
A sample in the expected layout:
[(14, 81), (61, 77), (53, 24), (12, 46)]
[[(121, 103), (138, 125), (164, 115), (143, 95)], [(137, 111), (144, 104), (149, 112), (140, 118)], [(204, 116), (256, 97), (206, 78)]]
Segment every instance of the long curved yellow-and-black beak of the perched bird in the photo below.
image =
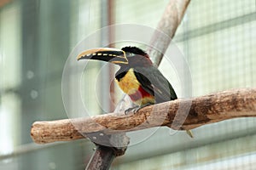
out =
[(77, 57), (80, 59), (96, 59), (111, 62), (113, 64), (128, 64), (125, 51), (117, 48), (93, 48), (86, 50)]

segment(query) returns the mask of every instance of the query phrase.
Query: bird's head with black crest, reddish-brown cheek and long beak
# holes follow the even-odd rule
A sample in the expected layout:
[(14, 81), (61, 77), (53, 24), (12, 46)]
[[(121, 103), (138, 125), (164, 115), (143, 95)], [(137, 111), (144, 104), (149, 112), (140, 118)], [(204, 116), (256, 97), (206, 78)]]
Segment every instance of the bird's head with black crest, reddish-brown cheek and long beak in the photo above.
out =
[(96, 59), (107, 61), (120, 66), (149, 66), (152, 65), (148, 54), (137, 47), (93, 48), (86, 50), (77, 57), (80, 59)]

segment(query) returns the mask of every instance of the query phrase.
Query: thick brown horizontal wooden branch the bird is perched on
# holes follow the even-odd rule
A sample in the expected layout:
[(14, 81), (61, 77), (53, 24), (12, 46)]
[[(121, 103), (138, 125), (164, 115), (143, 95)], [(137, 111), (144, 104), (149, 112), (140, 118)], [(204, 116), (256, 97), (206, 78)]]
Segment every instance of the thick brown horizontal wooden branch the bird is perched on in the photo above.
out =
[[(173, 122), (175, 116), (176, 121)], [(35, 122), (31, 135), (36, 143), (44, 144), (82, 139), (84, 136), (81, 133), (111, 134), (158, 126), (184, 130), (247, 116), (256, 116), (256, 88), (233, 89), (194, 99), (176, 99), (150, 105), (130, 115), (109, 113), (74, 120)]]

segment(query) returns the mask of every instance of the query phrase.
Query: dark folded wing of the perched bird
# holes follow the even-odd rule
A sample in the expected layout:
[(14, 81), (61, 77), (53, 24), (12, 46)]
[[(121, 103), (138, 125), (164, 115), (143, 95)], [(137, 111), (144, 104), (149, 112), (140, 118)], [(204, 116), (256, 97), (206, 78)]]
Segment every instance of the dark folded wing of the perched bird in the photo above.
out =
[(155, 103), (177, 99), (172, 85), (156, 67), (137, 67), (134, 74), (142, 88), (148, 94), (154, 95)]

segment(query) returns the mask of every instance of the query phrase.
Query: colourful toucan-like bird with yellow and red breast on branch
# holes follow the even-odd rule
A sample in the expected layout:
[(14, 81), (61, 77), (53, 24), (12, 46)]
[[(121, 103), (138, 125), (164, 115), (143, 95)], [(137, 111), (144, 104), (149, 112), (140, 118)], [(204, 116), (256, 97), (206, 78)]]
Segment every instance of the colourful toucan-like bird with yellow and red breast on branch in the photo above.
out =
[[(177, 99), (171, 83), (141, 48), (92, 48), (80, 53), (77, 59), (96, 59), (119, 65), (115, 80), (119, 88), (129, 95), (133, 104), (137, 105), (126, 110), (128, 112)], [(187, 133), (193, 138), (190, 130)]]

